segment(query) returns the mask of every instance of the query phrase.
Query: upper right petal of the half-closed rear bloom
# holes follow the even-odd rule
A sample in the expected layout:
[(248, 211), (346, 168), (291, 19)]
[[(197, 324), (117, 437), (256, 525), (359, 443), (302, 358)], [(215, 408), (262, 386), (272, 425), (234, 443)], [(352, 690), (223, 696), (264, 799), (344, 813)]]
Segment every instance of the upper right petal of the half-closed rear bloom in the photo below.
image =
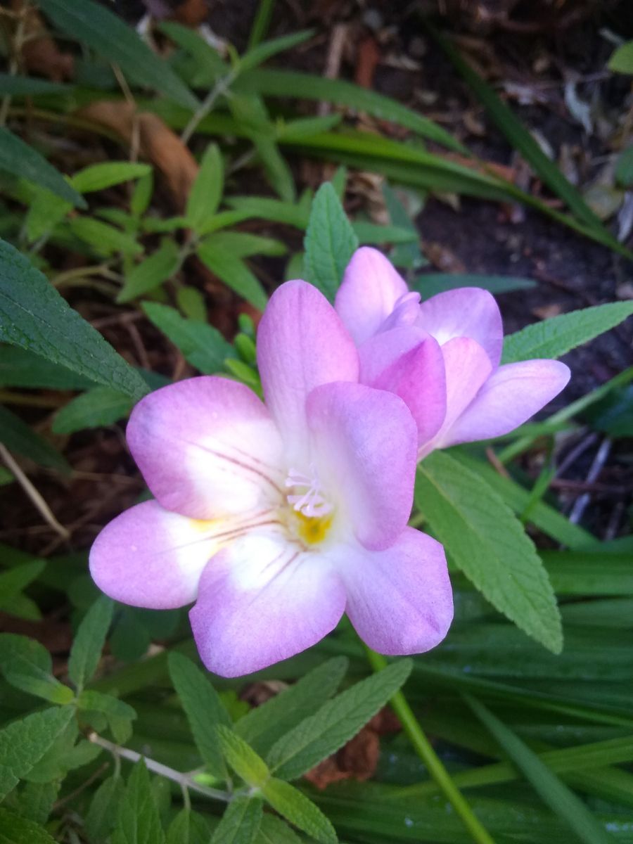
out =
[(490, 363), (498, 366), (503, 347), (499, 306), (488, 290), (461, 287), (438, 293), (419, 306), (418, 325), (440, 345), (455, 337), (469, 337), (485, 349)]

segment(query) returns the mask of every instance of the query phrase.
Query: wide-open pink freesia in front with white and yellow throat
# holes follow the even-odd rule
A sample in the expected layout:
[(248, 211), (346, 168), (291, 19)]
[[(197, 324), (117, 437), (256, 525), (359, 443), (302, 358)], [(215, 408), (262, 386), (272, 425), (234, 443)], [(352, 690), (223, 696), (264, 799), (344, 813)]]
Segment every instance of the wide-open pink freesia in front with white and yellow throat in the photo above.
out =
[(205, 665), (248, 674), (310, 647), (344, 611), (385, 654), (437, 645), (452, 620), (441, 545), (407, 527), (417, 432), (402, 399), (360, 385), (358, 353), (310, 284), (273, 295), (257, 358), (266, 404), (221, 377), (134, 408), (127, 441), (155, 500), (95, 540), (112, 598), (195, 601)]

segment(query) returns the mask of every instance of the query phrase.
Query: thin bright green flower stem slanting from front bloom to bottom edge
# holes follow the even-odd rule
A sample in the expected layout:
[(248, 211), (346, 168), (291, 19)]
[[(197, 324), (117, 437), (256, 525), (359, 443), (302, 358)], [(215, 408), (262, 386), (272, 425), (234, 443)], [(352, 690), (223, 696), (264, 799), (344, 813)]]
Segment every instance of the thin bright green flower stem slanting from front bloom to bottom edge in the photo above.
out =
[[(372, 651), (369, 647), (365, 647), (365, 652), (374, 671), (381, 671), (382, 668), (387, 666), (387, 660), (381, 654)], [(426, 738), (424, 730), (420, 727), (413, 710), (408, 705), (408, 701), (401, 691), (397, 691), (393, 695), (391, 704), (415, 752), (425, 763), (427, 770), (446, 795), (446, 798), (452, 803), (453, 808), (463, 820), (464, 826), (473, 836), (473, 840), (477, 841), (478, 844), (495, 844), (490, 833), (481, 824), (473, 813), (473, 809), (470, 808), (466, 799), (463, 797), (463, 794), (452, 781), (450, 774), (446, 771), (439, 756), (430, 744), (429, 739)]]

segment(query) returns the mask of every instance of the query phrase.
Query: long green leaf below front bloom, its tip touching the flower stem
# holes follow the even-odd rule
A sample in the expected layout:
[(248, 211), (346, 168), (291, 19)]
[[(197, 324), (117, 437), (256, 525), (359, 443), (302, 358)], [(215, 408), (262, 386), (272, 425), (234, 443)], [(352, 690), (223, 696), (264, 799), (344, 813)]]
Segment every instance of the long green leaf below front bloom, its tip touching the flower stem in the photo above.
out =
[(327, 701), (273, 744), (268, 765), (288, 780), (310, 771), (356, 735), (398, 691), (410, 671), (411, 660), (402, 659)]

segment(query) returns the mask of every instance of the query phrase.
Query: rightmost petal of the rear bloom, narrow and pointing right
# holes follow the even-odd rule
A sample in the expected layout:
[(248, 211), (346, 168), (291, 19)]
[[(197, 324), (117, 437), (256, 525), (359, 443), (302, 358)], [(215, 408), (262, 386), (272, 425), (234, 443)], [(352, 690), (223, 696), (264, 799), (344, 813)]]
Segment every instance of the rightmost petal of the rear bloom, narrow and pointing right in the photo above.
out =
[(446, 431), (444, 445), (507, 434), (557, 396), (569, 379), (569, 367), (558, 360), (500, 366)]

